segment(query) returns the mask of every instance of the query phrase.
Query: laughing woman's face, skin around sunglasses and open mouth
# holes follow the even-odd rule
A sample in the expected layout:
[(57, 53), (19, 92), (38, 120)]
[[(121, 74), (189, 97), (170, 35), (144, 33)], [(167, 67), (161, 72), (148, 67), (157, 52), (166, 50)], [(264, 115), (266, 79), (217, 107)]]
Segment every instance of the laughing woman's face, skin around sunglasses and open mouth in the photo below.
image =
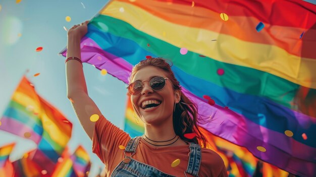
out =
[[(167, 74), (163, 70), (152, 66), (142, 68), (135, 74), (132, 82), (137, 80), (145, 82), (143, 82), (144, 86), (139, 95), (131, 95), (131, 101), (137, 116), (140, 117), (145, 124), (159, 125), (172, 117), (175, 93), (173, 85), (168, 79), (166, 79), (166, 85), (162, 90), (152, 90), (149, 86), (149, 81), (154, 76), (162, 76), (166, 78)], [(178, 96), (179, 95), (177, 95), (177, 97)], [(142, 102), (147, 99), (157, 100), (160, 102), (160, 105), (152, 109), (143, 109)]]

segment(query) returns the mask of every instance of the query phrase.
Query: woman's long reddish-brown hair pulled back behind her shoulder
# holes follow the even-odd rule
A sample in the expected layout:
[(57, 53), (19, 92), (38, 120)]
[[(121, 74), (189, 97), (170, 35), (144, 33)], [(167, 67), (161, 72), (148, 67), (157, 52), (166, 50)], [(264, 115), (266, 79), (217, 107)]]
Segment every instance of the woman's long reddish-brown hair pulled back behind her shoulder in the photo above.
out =
[[(165, 58), (161, 57), (151, 57), (141, 61), (133, 67), (129, 80), (131, 82), (135, 74), (147, 66), (153, 66), (165, 71), (167, 73), (167, 77), (173, 84), (174, 90), (180, 90), (181, 92), (180, 102), (176, 104), (175, 111), (173, 113), (173, 128), (175, 133), (186, 142), (193, 142), (200, 144), (201, 147), (206, 147), (206, 139), (197, 126), (197, 106), (183, 94), (180, 83), (175, 78), (175, 75), (171, 70), (172, 65), (170, 66), (166, 61), (167, 60)], [(196, 136), (193, 139), (187, 139), (184, 137), (184, 134), (187, 133), (195, 133)]]

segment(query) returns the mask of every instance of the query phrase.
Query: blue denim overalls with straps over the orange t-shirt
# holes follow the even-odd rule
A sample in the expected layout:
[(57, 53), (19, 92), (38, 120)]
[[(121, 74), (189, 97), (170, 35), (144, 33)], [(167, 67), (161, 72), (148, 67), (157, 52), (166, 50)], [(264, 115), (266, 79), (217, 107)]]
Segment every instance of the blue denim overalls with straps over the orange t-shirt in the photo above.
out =
[[(113, 170), (111, 177), (175, 177), (173, 175), (164, 173), (159, 169), (147, 165), (145, 163), (139, 162), (131, 158), (136, 153), (136, 147), (138, 145), (140, 136), (132, 138), (129, 140), (127, 147), (125, 148), (124, 154), (125, 158), (118, 164)], [(190, 143), (190, 157), (187, 170), (184, 171), (183, 176), (187, 176), (186, 172), (192, 174), (193, 176), (198, 176), (198, 170), (201, 163), (201, 147), (198, 144)], [(130, 157), (126, 156), (125, 152), (132, 152)]]

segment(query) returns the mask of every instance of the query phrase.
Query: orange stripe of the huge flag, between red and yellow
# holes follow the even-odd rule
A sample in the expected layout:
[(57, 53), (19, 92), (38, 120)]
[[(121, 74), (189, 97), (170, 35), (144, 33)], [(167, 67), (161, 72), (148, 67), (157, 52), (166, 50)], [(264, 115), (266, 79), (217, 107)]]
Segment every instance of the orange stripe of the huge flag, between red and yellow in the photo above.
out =
[[(229, 20), (224, 22), (220, 18), (220, 13), (214, 12), (204, 7), (192, 8), (191, 6), (183, 6), (180, 4), (166, 6), (166, 4), (162, 2), (146, 0), (138, 0), (136, 2), (120, 0), (120, 2), (122, 4), (137, 6), (149, 14), (152, 14), (174, 24), (191, 26), (194, 28), (205, 29), (216, 33), (227, 34), (239, 38), (243, 41), (276, 45), (280, 48), (285, 49), (288, 53), (297, 56), (316, 58), (314, 53), (305, 53), (300, 50), (302, 41), (299, 39), (299, 37), (301, 33), (304, 32), (304, 28), (293, 28), (265, 24), (265, 28), (268, 30), (262, 30), (260, 31), (260, 35), (258, 35), (258, 32), (255, 30), (255, 26), (258, 24), (258, 20), (254, 17), (230, 15)], [(113, 2), (112, 4), (116, 4), (116, 2)], [(100, 14), (107, 15), (107, 11), (112, 10), (111, 6), (108, 7), (106, 10), (101, 11)], [(137, 12), (133, 13), (136, 14)], [(187, 19), (188, 15), (191, 15), (190, 20)], [(240, 24), (243, 25), (241, 26)], [(280, 31), (287, 32), (280, 33)], [(311, 33), (316, 35), (316, 31), (311, 31)], [(209, 36), (209, 38), (211, 37), (217, 39), (217, 36)], [(316, 43), (314, 45), (316, 45)], [(311, 47), (313, 45), (308, 46)]]

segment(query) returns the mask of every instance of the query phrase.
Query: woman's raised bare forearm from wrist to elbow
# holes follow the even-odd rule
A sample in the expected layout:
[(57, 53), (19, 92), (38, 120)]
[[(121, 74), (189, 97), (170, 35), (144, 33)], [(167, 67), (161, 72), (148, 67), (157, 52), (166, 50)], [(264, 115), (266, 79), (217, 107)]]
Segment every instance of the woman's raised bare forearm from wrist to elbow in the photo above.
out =
[[(67, 42), (67, 58), (72, 56), (78, 57), (81, 60), (80, 38), (75, 35), (69, 35)], [(68, 97), (72, 96), (76, 91), (84, 91), (88, 94), (83, 68), (80, 62), (69, 60), (66, 63), (66, 82)]]

